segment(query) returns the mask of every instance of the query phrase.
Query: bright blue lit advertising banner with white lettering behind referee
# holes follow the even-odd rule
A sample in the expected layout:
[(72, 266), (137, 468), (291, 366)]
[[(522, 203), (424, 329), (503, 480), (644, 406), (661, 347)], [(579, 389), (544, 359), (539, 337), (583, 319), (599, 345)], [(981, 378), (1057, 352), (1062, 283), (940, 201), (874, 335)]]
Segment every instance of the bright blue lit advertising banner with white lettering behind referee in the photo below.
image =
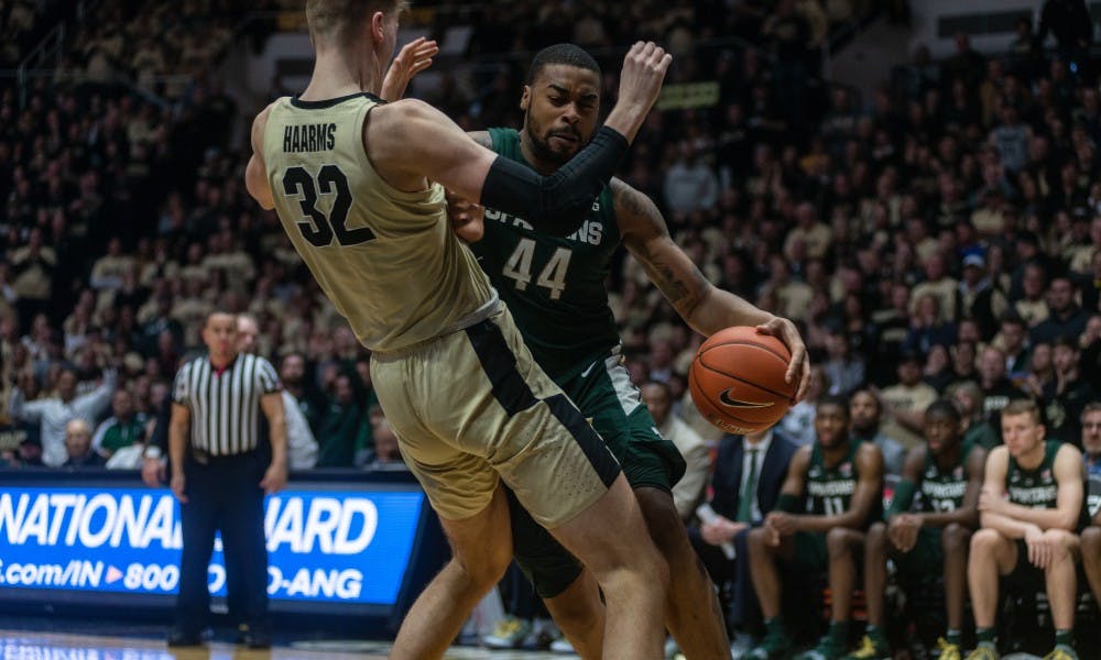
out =
[[(273, 601), (393, 605), (408, 568), (424, 494), (292, 484), (265, 501)], [(175, 594), (179, 509), (167, 490), (0, 490), (0, 592)], [(208, 571), (226, 594), (220, 539)]]

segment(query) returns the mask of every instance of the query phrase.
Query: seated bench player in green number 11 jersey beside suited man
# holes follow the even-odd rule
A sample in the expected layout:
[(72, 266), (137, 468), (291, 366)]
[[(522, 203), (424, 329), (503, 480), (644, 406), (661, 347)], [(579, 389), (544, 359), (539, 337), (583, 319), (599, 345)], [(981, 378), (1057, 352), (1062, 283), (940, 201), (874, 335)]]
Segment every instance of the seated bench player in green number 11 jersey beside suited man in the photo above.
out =
[(807, 575), (829, 570), (833, 620), (821, 642), (797, 658), (836, 659), (849, 646), (855, 557), (863, 530), (883, 512), (883, 453), (874, 442), (851, 440), (844, 397), (818, 400), (815, 435), (815, 442), (792, 459), (776, 508), (762, 527), (750, 530), (750, 566), (765, 638), (745, 658), (791, 656), (792, 637), (780, 612), (781, 562)]

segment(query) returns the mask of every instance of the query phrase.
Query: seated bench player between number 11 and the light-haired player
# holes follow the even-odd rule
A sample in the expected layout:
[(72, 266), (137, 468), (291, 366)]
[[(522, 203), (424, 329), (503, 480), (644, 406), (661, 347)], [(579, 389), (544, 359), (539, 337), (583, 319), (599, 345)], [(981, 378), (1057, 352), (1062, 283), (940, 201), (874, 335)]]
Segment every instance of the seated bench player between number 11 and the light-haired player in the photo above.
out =
[[(979, 491), (986, 452), (961, 440), (959, 409), (949, 400), (925, 409), (925, 443), (906, 454), (902, 481), (894, 492), (885, 522), (868, 530), (864, 542), (864, 595), (868, 631), (850, 660), (890, 660), (883, 631), (883, 590), (887, 559), (913, 579), (936, 575), (944, 568), (948, 631), (939, 640), (940, 660), (960, 660), (960, 630), (967, 598), (967, 551), (979, 524)], [(914, 494), (922, 510), (911, 513)]]

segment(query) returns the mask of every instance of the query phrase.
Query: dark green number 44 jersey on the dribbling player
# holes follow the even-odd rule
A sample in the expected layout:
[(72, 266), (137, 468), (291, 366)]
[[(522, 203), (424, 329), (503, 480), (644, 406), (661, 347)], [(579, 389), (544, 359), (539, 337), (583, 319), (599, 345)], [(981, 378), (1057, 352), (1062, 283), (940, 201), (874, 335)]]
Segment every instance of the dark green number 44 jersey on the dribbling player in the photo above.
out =
[[(490, 129), (493, 151), (524, 163), (520, 133)], [(530, 165), (528, 165), (530, 166)], [(486, 209), (486, 234), (471, 245), (509, 306), (539, 366), (558, 381), (620, 342), (604, 282), (620, 244), (608, 186), (574, 234), (538, 233), (523, 218)]]

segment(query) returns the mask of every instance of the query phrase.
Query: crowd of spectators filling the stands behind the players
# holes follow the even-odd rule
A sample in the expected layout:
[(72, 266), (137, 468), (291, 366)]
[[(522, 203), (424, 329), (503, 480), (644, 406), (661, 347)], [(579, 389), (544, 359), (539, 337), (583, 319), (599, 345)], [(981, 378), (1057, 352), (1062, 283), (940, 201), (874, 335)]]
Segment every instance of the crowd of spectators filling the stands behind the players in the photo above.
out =
[[(237, 8), (166, 7), (102, 2), (68, 56), (87, 67), (89, 54), (106, 53), (139, 84), (141, 59), (200, 73), (175, 103), (64, 76), (32, 81), (22, 106), (13, 86), (0, 91), (2, 403), (8, 426), (22, 429), (4, 436), (7, 460), (21, 462), (11, 438), (35, 435), (8, 408), (14, 394), (65, 400), (66, 369), (77, 397), (103, 370), (117, 372), (135, 414), (151, 417), (218, 307), (255, 315), (258, 350), (303, 365), (307, 418), (319, 439), (340, 438), (345, 464), (357, 451), (348, 447), (362, 454), (371, 444), (368, 356), (275, 217), (243, 191), (243, 145), (229, 140), (251, 109), (207, 75)], [(623, 177), (658, 202), (708, 277), (799, 322), (818, 389), (866, 388), (882, 407), (880, 430), (903, 446), (915, 442), (915, 413), (961, 387), (978, 393), (969, 398), (977, 420), (1014, 396), (1037, 397), (1055, 436), (1073, 440), (1078, 413), (1101, 386), (1101, 99), (1087, 63), (1072, 72), (1025, 48), (1027, 38), (986, 57), (960, 36), (953, 57), (919, 54), (872, 98), (844, 87), (807, 94), (814, 45), (851, 11), (811, 0), (734, 10), (641, 2), (613, 19), (600, 3), (489, 3), (473, 14), (471, 55), (547, 40), (603, 48), (640, 30), (671, 44), (672, 80), (715, 79), (720, 101), (655, 111)], [(502, 23), (541, 29), (494, 29)], [(111, 31), (120, 24), (137, 32)], [(151, 44), (159, 56), (142, 55)], [(188, 44), (204, 54), (188, 54)], [(606, 62), (613, 90), (615, 57)], [(471, 128), (516, 125), (522, 75), (434, 100)], [(700, 338), (629, 257), (611, 288), (633, 372), (684, 400)], [(109, 397), (100, 400), (89, 422), (107, 417)], [(693, 421), (690, 405), (676, 407)], [(796, 407), (782, 428), (807, 442), (807, 419)]]

